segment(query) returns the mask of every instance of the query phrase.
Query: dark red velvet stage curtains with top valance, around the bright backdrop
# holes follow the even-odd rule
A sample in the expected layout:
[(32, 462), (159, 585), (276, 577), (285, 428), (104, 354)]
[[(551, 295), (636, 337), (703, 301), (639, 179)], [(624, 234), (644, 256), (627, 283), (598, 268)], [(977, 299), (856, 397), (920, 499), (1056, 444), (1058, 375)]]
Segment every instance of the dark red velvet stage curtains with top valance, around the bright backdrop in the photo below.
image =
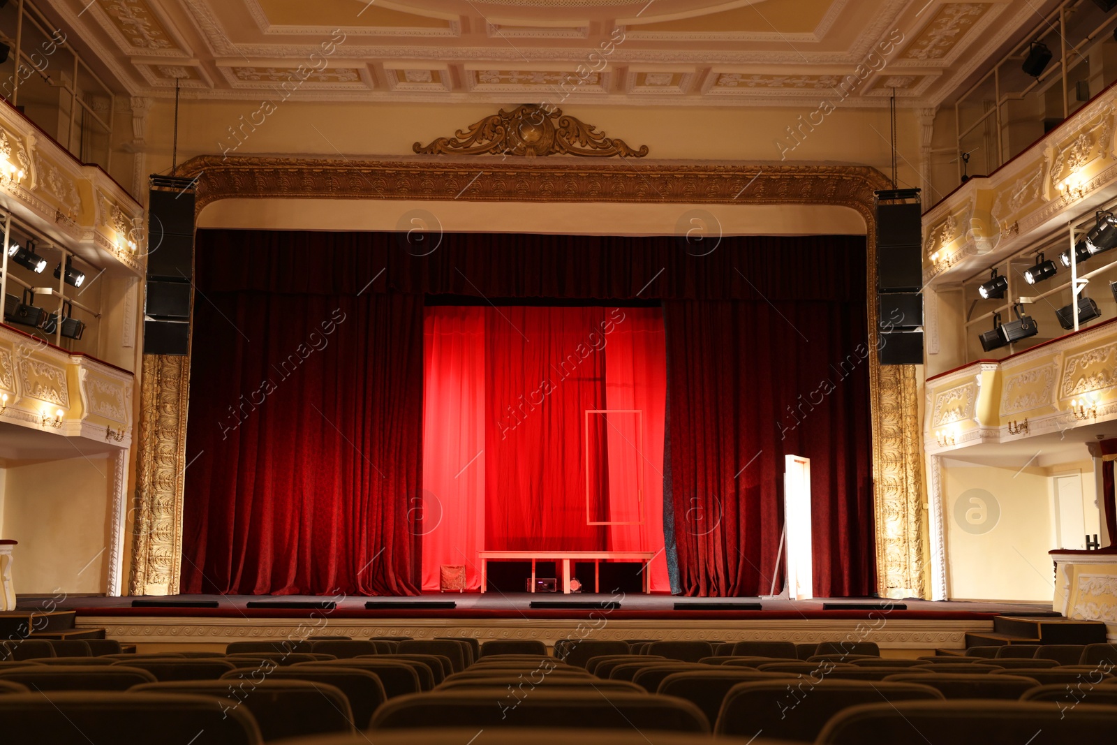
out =
[(422, 308), (439, 294), (663, 300), (677, 590), (767, 590), (795, 453), (812, 460), (815, 593), (872, 592), (863, 238), (726, 237), (701, 257), (669, 237), (446, 235), (427, 257), (398, 238), (198, 231), (184, 591), (418, 590)]

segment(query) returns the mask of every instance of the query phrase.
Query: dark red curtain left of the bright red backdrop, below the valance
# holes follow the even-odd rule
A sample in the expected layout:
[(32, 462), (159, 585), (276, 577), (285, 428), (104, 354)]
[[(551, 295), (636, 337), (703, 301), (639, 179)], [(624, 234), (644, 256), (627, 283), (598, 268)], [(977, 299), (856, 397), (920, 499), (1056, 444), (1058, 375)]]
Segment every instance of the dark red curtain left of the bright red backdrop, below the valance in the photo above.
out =
[[(238, 266), (208, 248), (209, 270)], [(204, 279), (182, 591), (416, 594), (422, 298), (210, 293)]]

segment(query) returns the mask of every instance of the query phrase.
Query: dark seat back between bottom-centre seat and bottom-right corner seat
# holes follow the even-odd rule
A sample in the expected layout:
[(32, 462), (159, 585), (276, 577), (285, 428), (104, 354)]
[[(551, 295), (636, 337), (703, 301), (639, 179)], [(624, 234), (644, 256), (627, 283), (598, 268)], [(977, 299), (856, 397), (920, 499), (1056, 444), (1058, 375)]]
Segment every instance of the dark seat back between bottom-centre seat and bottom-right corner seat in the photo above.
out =
[[(729, 689), (714, 727), (715, 735), (814, 742), (827, 720), (858, 704), (942, 699), (934, 688), (910, 682), (800, 679), (739, 682)], [(896, 741), (866, 739), (865, 743)], [(937, 744), (936, 744), (937, 745)]]

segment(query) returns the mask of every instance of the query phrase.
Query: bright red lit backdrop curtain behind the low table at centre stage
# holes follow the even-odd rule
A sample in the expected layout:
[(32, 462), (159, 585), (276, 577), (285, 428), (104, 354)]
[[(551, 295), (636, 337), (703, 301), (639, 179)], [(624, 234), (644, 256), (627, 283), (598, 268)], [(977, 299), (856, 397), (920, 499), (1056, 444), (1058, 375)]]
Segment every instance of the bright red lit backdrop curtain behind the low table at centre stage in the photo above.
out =
[[(477, 589), (481, 548), (649, 551), (652, 590), (669, 590), (662, 313), (437, 306), (426, 334), (423, 590), (439, 589), (442, 564), (465, 565)], [(624, 422), (588, 442), (594, 410), (639, 411), (639, 437)], [(589, 495), (588, 447), (607, 464), (591, 467)], [(638, 485), (639, 514), (626, 507)], [(588, 500), (596, 518), (608, 499), (637, 524), (590, 525)]]

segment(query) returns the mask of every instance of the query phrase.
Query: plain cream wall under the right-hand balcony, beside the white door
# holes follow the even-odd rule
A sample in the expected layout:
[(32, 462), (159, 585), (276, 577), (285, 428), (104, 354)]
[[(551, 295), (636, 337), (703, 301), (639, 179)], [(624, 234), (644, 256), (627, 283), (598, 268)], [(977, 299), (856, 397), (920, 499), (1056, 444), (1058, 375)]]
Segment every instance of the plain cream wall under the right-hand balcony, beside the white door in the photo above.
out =
[[(1050, 544), (1050, 478), (1041, 468), (994, 468), (943, 459), (947, 596), (1050, 603), (1053, 574)], [(956, 515), (957, 502), (976, 508), (966, 493), (982, 489), (996, 500), (1000, 518), (982, 534)], [(972, 496), (981, 496), (973, 494)], [(987, 502), (987, 498), (986, 498)], [(977, 515), (975, 515), (977, 517)]]

